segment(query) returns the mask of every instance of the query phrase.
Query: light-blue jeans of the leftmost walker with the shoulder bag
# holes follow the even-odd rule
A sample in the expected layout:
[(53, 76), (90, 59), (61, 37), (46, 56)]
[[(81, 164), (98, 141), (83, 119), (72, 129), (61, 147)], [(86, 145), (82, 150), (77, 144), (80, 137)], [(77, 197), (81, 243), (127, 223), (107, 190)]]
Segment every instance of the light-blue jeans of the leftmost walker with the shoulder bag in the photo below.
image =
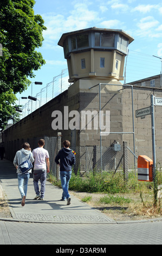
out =
[(28, 180), (30, 173), (18, 174), (18, 189), (21, 193), (21, 197), (27, 196)]

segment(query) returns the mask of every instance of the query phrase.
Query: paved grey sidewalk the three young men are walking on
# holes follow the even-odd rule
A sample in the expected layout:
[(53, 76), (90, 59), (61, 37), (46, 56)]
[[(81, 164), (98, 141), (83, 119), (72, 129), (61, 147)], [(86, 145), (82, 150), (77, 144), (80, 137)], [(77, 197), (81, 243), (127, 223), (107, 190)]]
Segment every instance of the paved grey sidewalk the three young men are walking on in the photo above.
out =
[[(61, 202), (62, 189), (49, 181), (46, 183), (44, 201), (33, 200), (35, 191), (33, 174), (30, 175), (25, 206), (21, 206), (21, 196), (17, 186), (17, 174), (14, 164), (8, 160), (0, 161), (0, 190), (4, 191), (9, 202), (12, 218), (8, 221), (41, 223), (116, 223), (99, 210), (90, 208), (86, 203), (71, 195), (71, 204)], [(4, 220), (4, 218), (0, 219)]]

